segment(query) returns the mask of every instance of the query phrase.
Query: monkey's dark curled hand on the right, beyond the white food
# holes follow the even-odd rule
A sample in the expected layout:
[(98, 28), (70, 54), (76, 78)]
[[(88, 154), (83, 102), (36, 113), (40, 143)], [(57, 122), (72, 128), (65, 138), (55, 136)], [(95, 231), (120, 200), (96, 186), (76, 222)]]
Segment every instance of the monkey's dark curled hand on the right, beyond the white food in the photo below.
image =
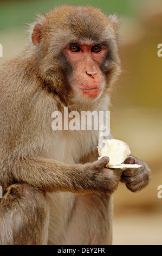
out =
[(128, 190), (136, 192), (146, 187), (151, 179), (151, 170), (148, 168), (147, 163), (132, 155), (128, 156), (124, 163), (142, 165), (140, 168), (126, 169), (122, 173), (121, 182), (125, 182)]

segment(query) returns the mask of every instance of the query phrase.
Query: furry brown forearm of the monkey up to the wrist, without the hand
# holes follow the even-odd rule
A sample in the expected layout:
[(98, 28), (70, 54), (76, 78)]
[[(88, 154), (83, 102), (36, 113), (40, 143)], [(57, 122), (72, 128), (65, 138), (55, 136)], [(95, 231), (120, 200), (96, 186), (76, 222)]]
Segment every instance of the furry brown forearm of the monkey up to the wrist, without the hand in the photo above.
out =
[[(75, 173), (76, 176), (76, 168), (79, 169), (79, 164), (70, 166), (43, 157), (28, 157), (14, 159), (10, 164), (5, 163), (0, 177), (2, 184), (7, 186), (12, 182), (25, 182), (48, 192), (73, 191), (74, 177), (70, 174)], [(7, 176), (10, 176), (10, 180)]]

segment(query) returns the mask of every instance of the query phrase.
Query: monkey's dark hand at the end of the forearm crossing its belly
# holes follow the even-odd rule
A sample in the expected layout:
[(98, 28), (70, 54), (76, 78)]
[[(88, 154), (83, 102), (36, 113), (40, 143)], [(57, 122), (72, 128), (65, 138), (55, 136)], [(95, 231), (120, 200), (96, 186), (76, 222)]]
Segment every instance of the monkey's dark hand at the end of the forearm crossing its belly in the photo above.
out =
[(102, 157), (100, 160), (92, 163), (84, 164), (86, 169), (87, 188), (91, 188), (92, 192), (98, 193), (113, 193), (120, 181), (121, 169), (107, 169), (106, 164), (109, 162), (109, 157)]

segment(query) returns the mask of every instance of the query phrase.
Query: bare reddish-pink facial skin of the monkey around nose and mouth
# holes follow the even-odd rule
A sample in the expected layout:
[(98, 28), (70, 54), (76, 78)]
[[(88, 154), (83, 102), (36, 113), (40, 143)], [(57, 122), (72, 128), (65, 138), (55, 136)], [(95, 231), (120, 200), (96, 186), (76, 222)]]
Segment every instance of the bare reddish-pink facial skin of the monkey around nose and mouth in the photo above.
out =
[[(73, 44), (66, 48), (66, 54), (73, 66), (73, 89), (80, 97), (95, 99), (103, 89), (104, 77), (100, 65), (105, 57), (107, 48), (94, 44)], [(99, 52), (94, 52), (95, 48)]]

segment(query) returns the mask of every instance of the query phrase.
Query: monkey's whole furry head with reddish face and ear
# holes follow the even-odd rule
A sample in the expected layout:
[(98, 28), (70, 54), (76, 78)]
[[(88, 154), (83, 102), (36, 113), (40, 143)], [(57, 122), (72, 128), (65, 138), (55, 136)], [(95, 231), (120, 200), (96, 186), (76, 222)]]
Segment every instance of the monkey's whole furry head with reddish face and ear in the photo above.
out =
[(93, 7), (63, 5), (39, 16), (31, 39), (45, 87), (68, 105), (110, 93), (120, 74), (117, 27), (116, 16)]

